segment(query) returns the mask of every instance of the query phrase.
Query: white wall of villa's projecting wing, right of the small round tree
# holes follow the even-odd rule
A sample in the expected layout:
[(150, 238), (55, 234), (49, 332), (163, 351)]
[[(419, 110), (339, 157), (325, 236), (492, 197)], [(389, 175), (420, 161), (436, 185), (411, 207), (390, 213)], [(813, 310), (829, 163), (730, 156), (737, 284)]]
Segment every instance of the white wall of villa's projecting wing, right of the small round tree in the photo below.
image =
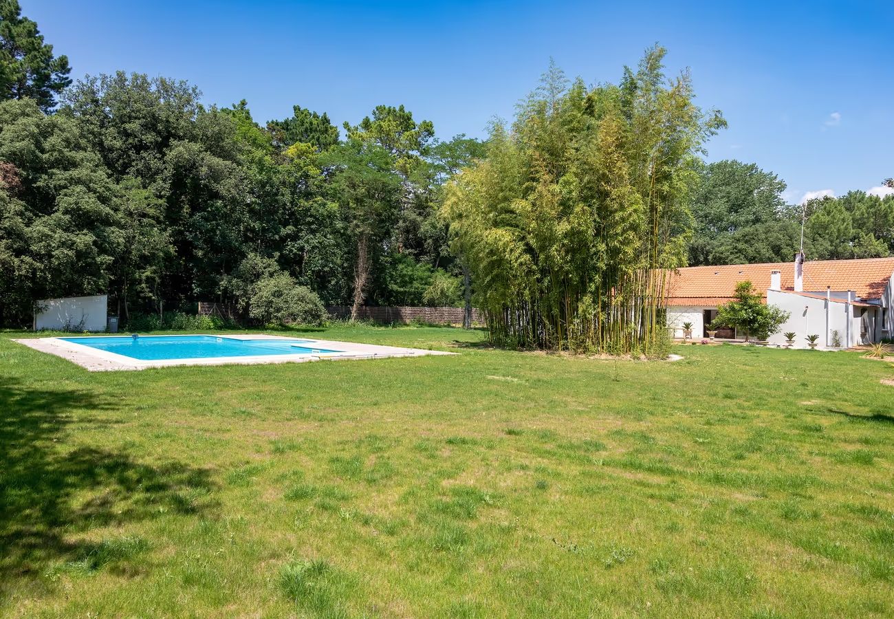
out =
[[(820, 348), (831, 348), (832, 332), (838, 331), (841, 346), (855, 346), (860, 343), (860, 310), (862, 308), (850, 307), (848, 318), (848, 305), (831, 301), (829, 303), (829, 328), (826, 329), (826, 300), (804, 297), (799, 294), (786, 293), (775, 290), (767, 291), (767, 303), (775, 305), (784, 311), (790, 312), (789, 320), (780, 326), (779, 333), (770, 336), (770, 343), (785, 344), (786, 331), (795, 332), (795, 348), (807, 348), (807, 335), (817, 334)], [(867, 309), (874, 311), (874, 309)], [(848, 319), (850, 321), (849, 343)]]

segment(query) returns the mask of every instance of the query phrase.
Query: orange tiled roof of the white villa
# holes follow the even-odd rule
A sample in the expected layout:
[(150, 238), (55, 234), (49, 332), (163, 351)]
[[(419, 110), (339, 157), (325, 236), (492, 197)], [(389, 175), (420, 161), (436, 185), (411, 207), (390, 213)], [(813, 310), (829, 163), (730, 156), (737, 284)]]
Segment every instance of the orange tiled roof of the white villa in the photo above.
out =
[[(795, 289), (795, 261), (763, 262), (753, 265), (684, 267), (671, 275), (668, 305), (719, 305), (730, 301), (736, 284), (750, 280), (755, 289), (767, 296), (770, 272), (782, 272), (782, 290)], [(804, 290), (823, 292), (854, 291), (863, 301), (881, 299), (894, 274), (894, 258), (853, 260), (807, 260), (804, 263)]]

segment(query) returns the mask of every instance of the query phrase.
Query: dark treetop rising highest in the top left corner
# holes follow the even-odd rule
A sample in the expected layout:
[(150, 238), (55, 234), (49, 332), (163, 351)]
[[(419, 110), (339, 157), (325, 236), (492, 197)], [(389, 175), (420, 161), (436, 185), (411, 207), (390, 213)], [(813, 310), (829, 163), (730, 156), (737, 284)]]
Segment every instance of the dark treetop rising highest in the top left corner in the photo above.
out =
[(49, 111), (72, 83), (68, 58), (54, 56), (38, 24), (21, 16), (18, 0), (0, 1), (0, 98), (31, 98)]

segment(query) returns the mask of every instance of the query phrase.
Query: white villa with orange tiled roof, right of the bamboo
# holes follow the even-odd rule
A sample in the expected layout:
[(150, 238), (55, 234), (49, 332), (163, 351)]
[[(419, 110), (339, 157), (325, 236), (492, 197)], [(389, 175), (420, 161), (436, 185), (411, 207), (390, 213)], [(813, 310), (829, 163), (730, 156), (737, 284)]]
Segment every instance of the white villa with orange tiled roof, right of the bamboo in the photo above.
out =
[[(733, 300), (736, 284), (751, 281), (772, 303), (790, 312), (789, 320), (770, 343), (784, 343), (794, 332), (796, 346), (806, 346), (807, 335), (819, 335), (822, 348), (848, 348), (880, 342), (894, 334), (894, 258), (805, 260), (751, 265), (685, 267), (671, 276), (667, 299), (668, 326), (683, 337), (683, 324), (692, 323), (692, 337), (708, 337), (717, 308)], [(720, 338), (735, 338), (719, 329)]]

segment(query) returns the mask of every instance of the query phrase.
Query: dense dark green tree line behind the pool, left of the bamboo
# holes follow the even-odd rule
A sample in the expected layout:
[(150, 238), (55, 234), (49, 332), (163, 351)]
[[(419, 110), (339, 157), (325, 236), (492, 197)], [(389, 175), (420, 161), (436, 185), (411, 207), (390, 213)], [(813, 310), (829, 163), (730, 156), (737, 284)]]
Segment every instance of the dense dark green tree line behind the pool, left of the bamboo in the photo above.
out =
[(345, 123), (342, 140), (326, 114), (295, 106), (261, 125), (245, 101), (203, 106), (184, 81), (70, 85), (33, 22), (3, 11), (3, 323), (27, 323), (38, 299), (106, 292), (125, 320), (197, 300), (248, 312), (274, 277), (325, 303), (460, 302), (435, 211), (451, 171), (482, 155), (476, 140), (438, 141), (403, 106)]

